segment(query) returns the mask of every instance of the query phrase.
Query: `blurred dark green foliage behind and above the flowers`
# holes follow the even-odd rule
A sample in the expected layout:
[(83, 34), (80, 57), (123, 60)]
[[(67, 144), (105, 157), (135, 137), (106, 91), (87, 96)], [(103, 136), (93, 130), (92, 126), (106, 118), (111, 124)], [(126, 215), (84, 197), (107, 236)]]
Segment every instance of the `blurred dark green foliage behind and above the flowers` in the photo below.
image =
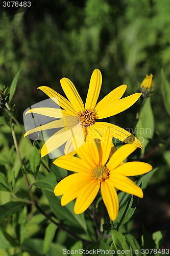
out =
[[(168, 229), (165, 247), (170, 247), (170, 120), (161, 93), (161, 69), (170, 81), (169, 13), (169, 0), (41, 0), (26, 12), (7, 17), (2, 8), (0, 14), (0, 86), (9, 87), (22, 69), (13, 98), (21, 123), (25, 109), (47, 98), (37, 87), (49, 86), (64, 96), (62, 77), (74, 82), (85, 100), (95, 68), (103, 75), (100, 99), (124, 83), (125, 96), (135, 93), (145, 74), (153, 74), (155, 134), (145, 153), (161, 143), (146, 159), (159, 169), (140, 200), (136, 219), (151, 232)], [(133, 127), (136, 109), (134, 105), (108, 120)]]

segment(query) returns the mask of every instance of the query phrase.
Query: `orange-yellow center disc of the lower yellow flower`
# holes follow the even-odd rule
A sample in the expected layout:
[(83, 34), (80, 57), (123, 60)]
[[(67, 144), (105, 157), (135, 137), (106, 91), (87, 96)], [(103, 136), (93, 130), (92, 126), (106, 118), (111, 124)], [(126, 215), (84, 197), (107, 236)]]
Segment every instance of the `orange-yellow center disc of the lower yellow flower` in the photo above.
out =
[(107, 180), (109, 178), (110, 171), (106, 166), (98, 165), (91, 171), (91, 176), (95, 180), (99, 180), (100, 182)]

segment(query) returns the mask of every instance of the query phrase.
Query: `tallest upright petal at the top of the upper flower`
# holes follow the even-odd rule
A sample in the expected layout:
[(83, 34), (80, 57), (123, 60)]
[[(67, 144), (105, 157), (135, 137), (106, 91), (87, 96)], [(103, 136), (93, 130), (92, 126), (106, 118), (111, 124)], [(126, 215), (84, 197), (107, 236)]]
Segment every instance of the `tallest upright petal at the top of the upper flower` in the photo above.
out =
[(85, 108), (94, 109), (99, 98), (102, 86), (102, 74), (99, 69), (95, 69), (91, 75), (89, 89), (87, 93)]

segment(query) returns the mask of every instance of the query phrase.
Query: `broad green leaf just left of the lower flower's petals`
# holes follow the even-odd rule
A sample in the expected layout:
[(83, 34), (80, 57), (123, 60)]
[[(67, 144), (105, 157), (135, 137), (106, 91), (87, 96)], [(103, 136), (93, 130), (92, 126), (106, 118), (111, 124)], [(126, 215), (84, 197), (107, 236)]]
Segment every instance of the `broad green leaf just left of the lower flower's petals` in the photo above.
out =
[(56, 184), (57, 180), (54, 173), (49, 173), (46, 177), (34, 183), (35, 186), (52, 192), (54, 191)]

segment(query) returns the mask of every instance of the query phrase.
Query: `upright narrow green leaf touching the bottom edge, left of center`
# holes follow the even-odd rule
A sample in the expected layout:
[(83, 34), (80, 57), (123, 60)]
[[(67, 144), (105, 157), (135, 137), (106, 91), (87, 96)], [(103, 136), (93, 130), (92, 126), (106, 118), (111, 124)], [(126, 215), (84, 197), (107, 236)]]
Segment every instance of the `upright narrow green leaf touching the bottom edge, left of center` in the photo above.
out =
[(54, 239), (57, 226), (54, 223), (50, 223), (45, 229), (45, 237), (43, 242), (43, 253), (46, 254), (50, 249), (51, 243)]

